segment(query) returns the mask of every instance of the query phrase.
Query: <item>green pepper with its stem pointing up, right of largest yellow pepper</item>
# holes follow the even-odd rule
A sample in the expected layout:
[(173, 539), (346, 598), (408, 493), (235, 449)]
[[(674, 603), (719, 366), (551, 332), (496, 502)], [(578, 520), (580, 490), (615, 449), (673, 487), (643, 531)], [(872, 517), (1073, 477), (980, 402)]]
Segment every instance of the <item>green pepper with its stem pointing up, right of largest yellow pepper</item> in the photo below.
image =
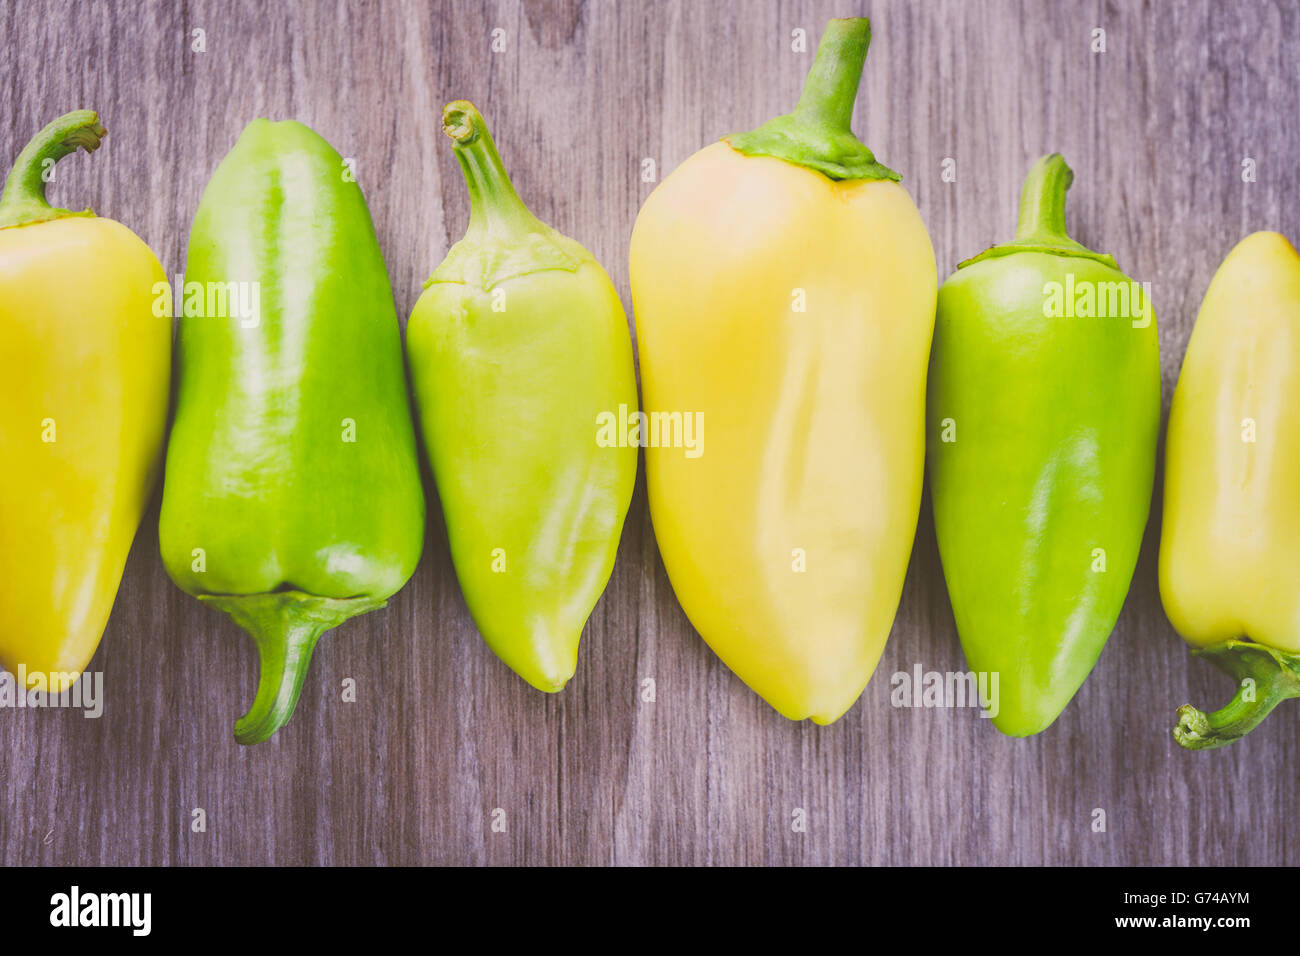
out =
[(1154, 313), (1114, 259), (1066, 235), (1071, 179), (1060, 155), (1040, 159), (1015, 239), (944, 282), (930, 367), (944, 576), (967, 663), (998, 675), (988, 713), (1010, 736), (1050, 726), (1101, 654), (1156, 467)]

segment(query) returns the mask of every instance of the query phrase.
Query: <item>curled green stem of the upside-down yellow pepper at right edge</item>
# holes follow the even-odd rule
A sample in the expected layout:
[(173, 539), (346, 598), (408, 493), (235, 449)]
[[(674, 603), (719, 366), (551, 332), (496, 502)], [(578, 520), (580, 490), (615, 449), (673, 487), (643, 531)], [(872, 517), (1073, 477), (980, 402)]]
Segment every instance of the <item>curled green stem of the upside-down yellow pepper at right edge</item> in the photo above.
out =
[(1253, 641), (1225, 641), (1193, 653), (1235, 678), (1239, 687), (1228, 705), (1213, 714), (1191, 704), (1178, 709), (1174, 740), (1190, 750), (1209, 750), (1240, 740), (1278, 704), (1300, 697), (1300, 656)]

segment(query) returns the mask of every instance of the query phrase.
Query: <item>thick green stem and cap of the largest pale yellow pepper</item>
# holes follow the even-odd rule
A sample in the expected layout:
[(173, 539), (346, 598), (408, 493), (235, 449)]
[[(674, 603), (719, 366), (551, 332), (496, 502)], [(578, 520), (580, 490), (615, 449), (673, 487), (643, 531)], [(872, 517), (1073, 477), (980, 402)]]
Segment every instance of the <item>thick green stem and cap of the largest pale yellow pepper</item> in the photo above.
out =
[(794, 111), (725, 142), (746, 156), (774, 156), (832, 179), (900, 179), (850, 129), (870, 46), (870, 20), (832, 20)]

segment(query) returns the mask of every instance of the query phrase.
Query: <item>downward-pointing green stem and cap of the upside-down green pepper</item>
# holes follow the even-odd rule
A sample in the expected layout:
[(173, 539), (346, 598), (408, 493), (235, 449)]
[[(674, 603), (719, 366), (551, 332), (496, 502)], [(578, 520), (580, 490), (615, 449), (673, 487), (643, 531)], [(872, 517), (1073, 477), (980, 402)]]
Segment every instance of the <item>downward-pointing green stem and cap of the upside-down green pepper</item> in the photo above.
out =
[(261, 665), (257, 696), (248, 713), (235, 722), (235, 740), (240, 744), (260, 744), (289, 723), (322, 633), (386, 604), (370, 597), (339, 600), (300, 591), (199, 594), (199, 600), (229, 614), (257, 645)]

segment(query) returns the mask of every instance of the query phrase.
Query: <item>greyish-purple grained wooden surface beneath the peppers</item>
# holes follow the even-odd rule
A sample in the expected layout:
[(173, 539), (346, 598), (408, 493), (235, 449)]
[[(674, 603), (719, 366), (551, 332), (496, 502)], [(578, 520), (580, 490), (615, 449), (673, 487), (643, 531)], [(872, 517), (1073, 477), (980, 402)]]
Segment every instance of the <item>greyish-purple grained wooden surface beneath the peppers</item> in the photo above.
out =
[[(99, 109), (105, 148), (61, 164), (52, 198), (126, 222), (172, 276), (243, 125), (302, 120), (356, 159), (404, 316), (465, 226), (438, 114), (469, 98), (526, 202), (630, 308), (642, 159), (662, 178), (786, 111), (824, 21), (850, 13), (875, 33), (857, 130), (902, 172), (940, 276), (1009, 238), (1030, 163), (1063, 152), (1074, 235), (1152, 282), (1167, 412), (1219, 260), (1256, 229), (1300, 237), (1292, 0), (0, 0), (0, 159), (56, 114)], [(810, 52), (790, 52), (794, 29)], [(642, 473), (562, 695), (481, 643), (433, 509), (411, 583), (321, 641), (294, 721), (248, 749), (231, 724), (252, 700), (252, 644), (172, 585), (155, 506), (91, 665), (105, 715), (0, 710), (0, 864), (1300, 864), (1300, 705), (1225, 750), (1170, 736), (1179, 704), (1232, 688), (1165, 619), (1158, 520), (1114, 636), (1050, 730), (1011, 740), (974, 710), (892, 708), (893, 672), (965, 670), (928, 511), (927, 497), (876, 676), (831, 727), (779, 717), (690, 628)]]

